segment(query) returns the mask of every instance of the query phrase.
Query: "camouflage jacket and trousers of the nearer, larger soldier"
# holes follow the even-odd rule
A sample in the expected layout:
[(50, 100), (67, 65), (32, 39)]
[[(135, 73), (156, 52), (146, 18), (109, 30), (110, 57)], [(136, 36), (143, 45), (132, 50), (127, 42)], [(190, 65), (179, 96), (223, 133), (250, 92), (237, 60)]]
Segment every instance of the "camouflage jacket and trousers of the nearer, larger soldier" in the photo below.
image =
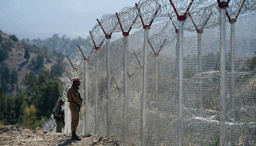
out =
[(82, 98), (78, 91), (79, 87), (72, 84), (72, 87), (68, 89), (68, 102), (69, 109), (71, 111), (71, 131), (75, 132), (79, 122), (80, 106), (82, 106)]

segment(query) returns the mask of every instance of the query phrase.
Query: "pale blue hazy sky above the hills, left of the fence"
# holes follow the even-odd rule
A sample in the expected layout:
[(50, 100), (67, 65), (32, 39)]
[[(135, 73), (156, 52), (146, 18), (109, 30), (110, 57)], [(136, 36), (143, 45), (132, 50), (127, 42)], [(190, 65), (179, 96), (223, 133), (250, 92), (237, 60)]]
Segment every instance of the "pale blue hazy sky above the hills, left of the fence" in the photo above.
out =
[(19, 39), (86, 38), (106, 13), (139, 0), (0, 0), (0, 30)]

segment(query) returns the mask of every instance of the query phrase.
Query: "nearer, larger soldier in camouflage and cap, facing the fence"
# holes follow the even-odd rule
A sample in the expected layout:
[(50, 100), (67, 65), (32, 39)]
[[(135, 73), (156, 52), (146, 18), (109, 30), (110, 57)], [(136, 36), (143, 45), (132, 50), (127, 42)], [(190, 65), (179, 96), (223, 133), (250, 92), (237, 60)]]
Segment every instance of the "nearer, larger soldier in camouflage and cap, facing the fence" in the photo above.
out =
[(76, 127), (79, 122), (79, 112), (82, 107), (82, 98), (78, 91), (80, 82), (78, 77), (72, 79), (72, 87), (68, 89), (68, 102), (69, 109), (71, 111), (71, 131), (72, 131), (72, 140), (80, 141), (81, 138), (76, 135)]

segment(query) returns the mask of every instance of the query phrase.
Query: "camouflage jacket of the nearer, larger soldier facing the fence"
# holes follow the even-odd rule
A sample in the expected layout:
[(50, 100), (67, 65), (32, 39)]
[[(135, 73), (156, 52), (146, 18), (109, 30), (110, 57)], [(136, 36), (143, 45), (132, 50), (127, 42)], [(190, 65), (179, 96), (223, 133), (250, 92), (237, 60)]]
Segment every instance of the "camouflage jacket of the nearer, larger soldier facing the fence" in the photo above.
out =
[(71, 88), (68, 89), (68, 102), (82, 106), (82, 98), (78, 89), (79, 87), (75, 86), (74, 84), (72, 84)]

